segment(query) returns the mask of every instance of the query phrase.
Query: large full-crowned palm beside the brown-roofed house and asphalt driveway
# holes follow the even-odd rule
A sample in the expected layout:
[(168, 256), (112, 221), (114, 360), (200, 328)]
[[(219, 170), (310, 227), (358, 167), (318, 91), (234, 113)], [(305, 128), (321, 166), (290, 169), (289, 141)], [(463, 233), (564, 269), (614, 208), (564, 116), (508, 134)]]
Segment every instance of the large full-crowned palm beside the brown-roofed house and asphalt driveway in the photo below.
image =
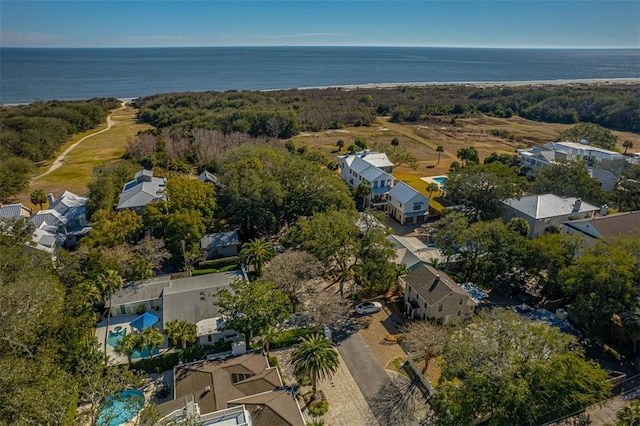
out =
[(312, 400), (316, 397), (318, 380), (331, 377), (340, 364), (335, 345), (321, 334), (302, 337), (291, 353), (291, 362), (298, 377), (311, 381)]

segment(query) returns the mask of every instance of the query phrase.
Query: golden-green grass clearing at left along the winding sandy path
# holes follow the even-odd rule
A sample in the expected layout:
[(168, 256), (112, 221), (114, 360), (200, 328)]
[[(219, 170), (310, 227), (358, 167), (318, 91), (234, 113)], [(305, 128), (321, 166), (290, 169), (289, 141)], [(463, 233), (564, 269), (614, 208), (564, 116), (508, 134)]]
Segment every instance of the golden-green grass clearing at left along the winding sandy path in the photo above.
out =
[[(128, 138), (150, 127), (136, 122), (136, 109), (131, 107), (115, 111), (111, 119), (113, 120), (111, 129), (83, 141), (67, 154), (60, 168), (32, 182), (29, 192), (17, 195), (16, 202), (33, 207), (29, 201), (29, 194), (35, 189), (43, 189), (47, 194), (52, 192), (56, 197), (65, 190), (79, 195), (85, 194), (87, 184), (91, 181), (93, 168), (120, 158), (125, 152)], [(80, 138), (96, 133), (104, 127), (103, 125), (89, 132), (75, 135), (60, 147), (56, 157)], [(51, 159), (40, 164), (36, 175), (47, 171), (53, 161), (54, 159)]]

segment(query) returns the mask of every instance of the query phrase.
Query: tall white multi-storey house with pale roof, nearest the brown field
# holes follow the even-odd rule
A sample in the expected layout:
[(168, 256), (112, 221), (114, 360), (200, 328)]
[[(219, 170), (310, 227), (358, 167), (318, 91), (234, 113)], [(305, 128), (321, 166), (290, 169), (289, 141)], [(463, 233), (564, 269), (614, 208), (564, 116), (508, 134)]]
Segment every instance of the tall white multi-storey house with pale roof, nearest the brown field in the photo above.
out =
[(340, 177), (351, 188), (357, 188), (365, 181), (371, 188), (369, 203), (373, 207), (384, 206), (387, 194), (394, 185), (391, 174), (393, 163), (385, 153), (369, 150), (338, 156)]

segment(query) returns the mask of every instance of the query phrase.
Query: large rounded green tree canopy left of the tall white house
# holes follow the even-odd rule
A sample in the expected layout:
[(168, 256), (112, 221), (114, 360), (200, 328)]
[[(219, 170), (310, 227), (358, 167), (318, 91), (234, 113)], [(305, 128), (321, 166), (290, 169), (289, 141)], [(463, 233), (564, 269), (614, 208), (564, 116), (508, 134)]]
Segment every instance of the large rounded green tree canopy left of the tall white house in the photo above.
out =
[(221, 161), (219, 204), (248, 236), (274, 234), (299, 217), (354, 209), (340, 178), (305, 156), (267, 147), (230, 152)]

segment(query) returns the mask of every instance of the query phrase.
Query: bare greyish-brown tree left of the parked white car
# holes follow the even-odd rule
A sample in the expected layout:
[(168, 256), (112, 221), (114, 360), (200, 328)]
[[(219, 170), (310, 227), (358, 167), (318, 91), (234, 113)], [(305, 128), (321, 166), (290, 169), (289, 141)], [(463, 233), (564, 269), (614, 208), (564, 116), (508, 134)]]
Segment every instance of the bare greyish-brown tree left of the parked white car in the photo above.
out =
[(273, 281), (287, 295), (295, 312), (300, 299), (309, 290), (307, 283), (322, 274), (322, 264), (306, 251), (287, 250), (274, 257), (263, 271), (267, 281)]

